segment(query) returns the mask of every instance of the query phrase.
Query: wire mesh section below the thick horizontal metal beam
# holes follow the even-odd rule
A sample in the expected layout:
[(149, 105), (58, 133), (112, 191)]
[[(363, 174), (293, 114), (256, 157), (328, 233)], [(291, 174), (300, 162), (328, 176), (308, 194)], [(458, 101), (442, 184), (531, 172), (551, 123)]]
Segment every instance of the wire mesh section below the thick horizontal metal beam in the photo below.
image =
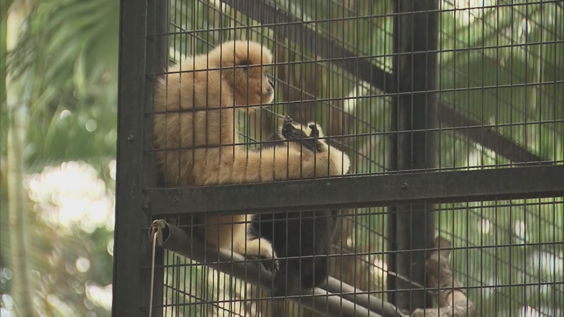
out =
[[(330, 275), (373, 300), (386, 300), (388, 275), (409, 281), (387, 266), (387, 254), (398, 251), (387, 248), (393, 238), (387, 232), (386, 209), (342, 210), (329, 256)], [(435, 234), (452, 241), (454, 276), (479, 315), (559, 316), (564, 305), (563, 209), (562, 197), (554, 197), (440, 204), (425, 212), (437, 213)], [(180, 227), (190, 231), (192, 225)], [(164, 268), (167, 316), (312, 314), (173, 252), (166, 253)]]

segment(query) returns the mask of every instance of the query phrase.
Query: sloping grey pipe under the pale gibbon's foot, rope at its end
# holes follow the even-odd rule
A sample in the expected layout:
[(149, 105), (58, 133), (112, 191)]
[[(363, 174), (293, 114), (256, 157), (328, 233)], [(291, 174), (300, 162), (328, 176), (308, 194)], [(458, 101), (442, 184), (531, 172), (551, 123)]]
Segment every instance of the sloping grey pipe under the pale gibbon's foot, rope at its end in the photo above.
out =
[[(149, 231), (150, 236), (153, 232), (157, 232), (157, 244), (162, 248), (242, 279), (246, 283), (261, 285), (264, 290), (271, 289), (272, 274), (258, 262), (250, 262), (241, 254), (227, 250), (218, 252), (213, 248), (206, 248), (201, 241), (192, 239), (186, 231), (164, 220), (153, 222)], [(325, 316), (382, 317), (376, 312), (342, 298), (339, 294), (332, 294), (320, 288), (303, 289), (301, 294), (289, 299)]]

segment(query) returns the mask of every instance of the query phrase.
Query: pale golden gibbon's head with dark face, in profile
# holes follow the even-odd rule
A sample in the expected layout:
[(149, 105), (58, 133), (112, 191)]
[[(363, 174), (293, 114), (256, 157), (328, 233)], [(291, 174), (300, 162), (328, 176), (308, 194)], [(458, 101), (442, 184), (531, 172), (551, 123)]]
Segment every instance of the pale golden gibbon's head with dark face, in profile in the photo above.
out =
[(229, 41), (215, 47), (209, 59), (222, 68), (222, 80), (233, 88), (236, 105), (267, 104), (274, 100), (274, 83), (266, 77), (267, 65), (272, 63), (267, 47), (257, 42)]

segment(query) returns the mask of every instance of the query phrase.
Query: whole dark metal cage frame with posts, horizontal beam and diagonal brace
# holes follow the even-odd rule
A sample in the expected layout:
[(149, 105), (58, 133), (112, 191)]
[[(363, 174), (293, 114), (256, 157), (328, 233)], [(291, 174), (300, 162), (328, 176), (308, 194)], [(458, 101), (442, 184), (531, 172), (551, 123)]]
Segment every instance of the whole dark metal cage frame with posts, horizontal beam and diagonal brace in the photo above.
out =
[[(437, 104), (433, 96), (437, 89), (434, 81), (431, 80), (434, 77), (436, 59), (432, 56), (434, 53), (427, 52), (436, 51), (437, 38), (419, 37), (417, 41), (413, 40), (416, 30), (426, 29), (431, 31), (430, 33), (437, 30), (437, 21), (431, 18), (438, 14), (437, 1), (398, 0), (400, 5), (396, 11), (398, 14), (395, 15), (395, 31), (397, 32), (394, 32), (398, 42), (395, 43), (394, 48), (395, 52), (402, 54), (397, 55), (399, 58), (396, 57), (394, 61), (394, 70), (399, 69), (396, 71), (397, 76), (362, 59), (355, 59), (354, 52), (347, 51), (339, 43), (320, 36), (300, 24), (298, 19), (276, 10), (268, 3), (260, 0), (223, 0), (223, 2), (261, 21), (267, 27), (293, 29), (294, 32), (284, 33), (290, 41), (304, 43), (308, 49), (320, 52), (331, 63), (371, 82), (385, 94), (394, 94), (397, 99), (395, 102), (398, 104), (394, 122), (397, 124), (396, 131), (399, 131), (397, 135), (393, 136), (395, 138), (393, 161), (397, 163), (394, 166), (396, 173), (264, 184), (152, 189), (155, 185), (152, 157), (144, 152), (147, 150), (144, 149), (144, 145), (151, 144), (152, 140), (149, 116), (152, 109), (148, 101), (152, 98), (153, 77), (151, 76), (159, 73), (159, 68), (166, 65), (168, 51), (160, 50), (160, 48), (168, 47), (168, 45), (166, 45), (166, 35), (162, 35), (161, 41), (157, 40), (154, 43), (147, 41), (147, 35), (152, 33), (152, 30), (147, 27), (149, 25), (158, 26), (153, 35), (166, 34), (166, 20), (162, 20), (162, 15), (167, 12), (167, 2), (121, 0), (118, 173), (112, 316), (138, 315), (141, 311), (147, 313), (143, 307), (147, 306), (146, 294), (148, 292), (137, 291), (146, 289), (149, 285), (147, 269), (150, 260), (149, 244), (146, 232), (142, 229), (147, 227), (152, 218), (158, 216), (206, 211), (262, 210), (272, 212), (272, 210), (314, 206), (356, 208), (391, 205), (396, 216), (391, 217), (390, 228), (393, 228), (392, 232), (396, 232), (396, 236), (393, 239), (395, 242), (390, 245), (390, 250), (415, 249), (419, 252), (417, 254), (415, 252), (390, 252), (390, 267), (398, 274), (409, 276), (416, 283), (425, 285), (423, 272), (425, 254), (421, 250), (429, 248), (434, 231), (430, 227), (416, 224), (433, 222), (429, 221), (429, 213), (418, 212), (417, 214), (412, 210), (432, 209), (429, 204), (435, 202), (564, 196), (564, 182), (562, 182), (564, 166), (562, 165), (496, 170), (436, 171), (432, 164), (434, 157), (430, 156), (433, 151), (429, 151), (429, 148), (433, 147), (432, 133), (429, 133), (429, 130), (432, 131), (436, 124), (426, 120), (412, 121), (412, 117), (438, 118), (448, 127), (463, 128), (457, 131), (513, 162), (554, 163), (547, 162), (545, 158), (528, 152), (513, 140), (484, 127), (479, 122), (472, 121), (448, 105)], [(153, 14), (151, 14), (152, 11), (154, 11)], [(417, 13), (413, 14), (413, 11)], [(401, 28), (398, 28), (399, 24), (402, 25)], [(414, 54), (413, 51), (420, 53)], [(411, 54), (403, 54), (410, 52)], [(415, 62), (417, 59), (420, 60), (419, 63)], [(146, 74), (151, 76), (146, 76)], [(419, 78), (422, 76), (428, 80), (423, 82), (424, 85), (417, 85), (417, 82), (409, 80), (404, 81), (405, 78), (411, 76)], [(413, 91), (416, 93), (413, 94)], [(426, 107), (415, 108), (412, 107), (413, 104), (425, 104)], [(144, 107), (139, 107), (139, 105), (144, 105)], [(439, 109), (438, 115), (437, 108)], [(461, 125), (462, 122), (466, 124)], [(412, 133), (411, 130), (414, 129), (418, 132)], [(496, 141), (493, 142), (493, 139)], [(412, 148), (411, 144), (418, 144), (418, 146)], [(404, 170), (418, 173), (402, 174), (399, 172)], [(423, 171), (425, 172), (420, 173)], [(256, 195), (257, 192), (264, 194)], [(210, 197), (217, 196), (222, 196), (223, 199), (210, 199)], [(240, 197), (254, 197), (254, 199), (241, 200)], [(288, 200), (288, 197), (292, 199)], [(331, 200), (328, 200), (327, 197), (331, 197)], [(425, 236), (425, 239), (418, 239), (421, 236)], [(196, 245), (197, 241), (191, 243)], [(166, 243), (163, 243), (162, 246), (167, 247)], [(180, 248), (169, 245), (168, 249), (183, 254)], [(205, 252), (208, 252), (208, 256), (213, 254), (209, 249)], [(409, 270), (414, 257), (416, 258), (415, 263), (418, 263), (417, 267), (421, 268), (417, 272)], [(232, 261), (233, 257), (230, 255), (228, 259)], [(161, 264), (160, 269), (159, 264)], [(232, 262), (228, 263), (226, 270), (232, 272), (233, 265)], [(249, 263), (245, 265), (245, 270), (253, 270)], [(256, 271), (253, 272), (256, 273)], [(158, 280), (162, 280), (162, 254), (160, 258), (157, 257), (156, 280), (155, 285), (158, 287)], [(350, 285), (342, 283), (338, 285), (337, 282), (337, 280), (331, 280), (324, 287), (332, 293), (354, 293), (355, 289)], [(391, 276), (389, 276), (388, 283), (395, 289), (412, 288), (412, 285), (402, 285)], [(160, 287), (162, 291), (162, 285)], [(156, 294), (158, 294), (158, 289)], [(390, 295), (391, 302), (395, 303), (399, 309), (409, 311), (414, 307), (427, 306), (430, 300), (422, 290), (411, 290), (404, 295), (390, 292)], [(325, 291), (314, 298), (315, 301), (318, 301), (318, 298), (322, 298), (321, 301), (323, 301), (317, 302), (316, 307), (333, 307), (332, 303), (328, 304), (327, 298), (335, 297), (328, 297)], [(353, 309), (364, 315), (370, 314), (371, 310), (374, 312), (378, 309), (370, 305), (379, 301), (368, 301), (370, 298), (368, 296), (359, 298), (359, 295), (356, 294), (352, 296), (342, 294), (342, 298), (340, 300), (345, 303), (345, 306), (352, 305)], [(359, 306), (355, 307), (355, 303), (364, 307), (364, 310), (359, 310)], [(153, 307), (156, 306), (152, 312), (153, 315), (160, 315), (157, 308), (160, 308), (161, 305), (162, 298), (156, 296), (153, 301)], [(388, 309), (393, 307), (389, 304), (384, 306)], [(373, 312), (372, 315), (378, 316)]]

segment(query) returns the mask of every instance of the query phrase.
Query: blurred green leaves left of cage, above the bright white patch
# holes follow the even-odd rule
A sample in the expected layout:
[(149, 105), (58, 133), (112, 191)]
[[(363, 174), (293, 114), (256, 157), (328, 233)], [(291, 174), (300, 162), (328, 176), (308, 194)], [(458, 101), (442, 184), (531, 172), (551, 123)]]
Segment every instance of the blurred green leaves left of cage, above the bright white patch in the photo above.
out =
[(33, 78), (25, 153), (32, 170), (64, 160), (100, 168), (113, 157), (118, 13), (117, 0), (33, 3), (7, 64), (15, 80), (24, 71)]

